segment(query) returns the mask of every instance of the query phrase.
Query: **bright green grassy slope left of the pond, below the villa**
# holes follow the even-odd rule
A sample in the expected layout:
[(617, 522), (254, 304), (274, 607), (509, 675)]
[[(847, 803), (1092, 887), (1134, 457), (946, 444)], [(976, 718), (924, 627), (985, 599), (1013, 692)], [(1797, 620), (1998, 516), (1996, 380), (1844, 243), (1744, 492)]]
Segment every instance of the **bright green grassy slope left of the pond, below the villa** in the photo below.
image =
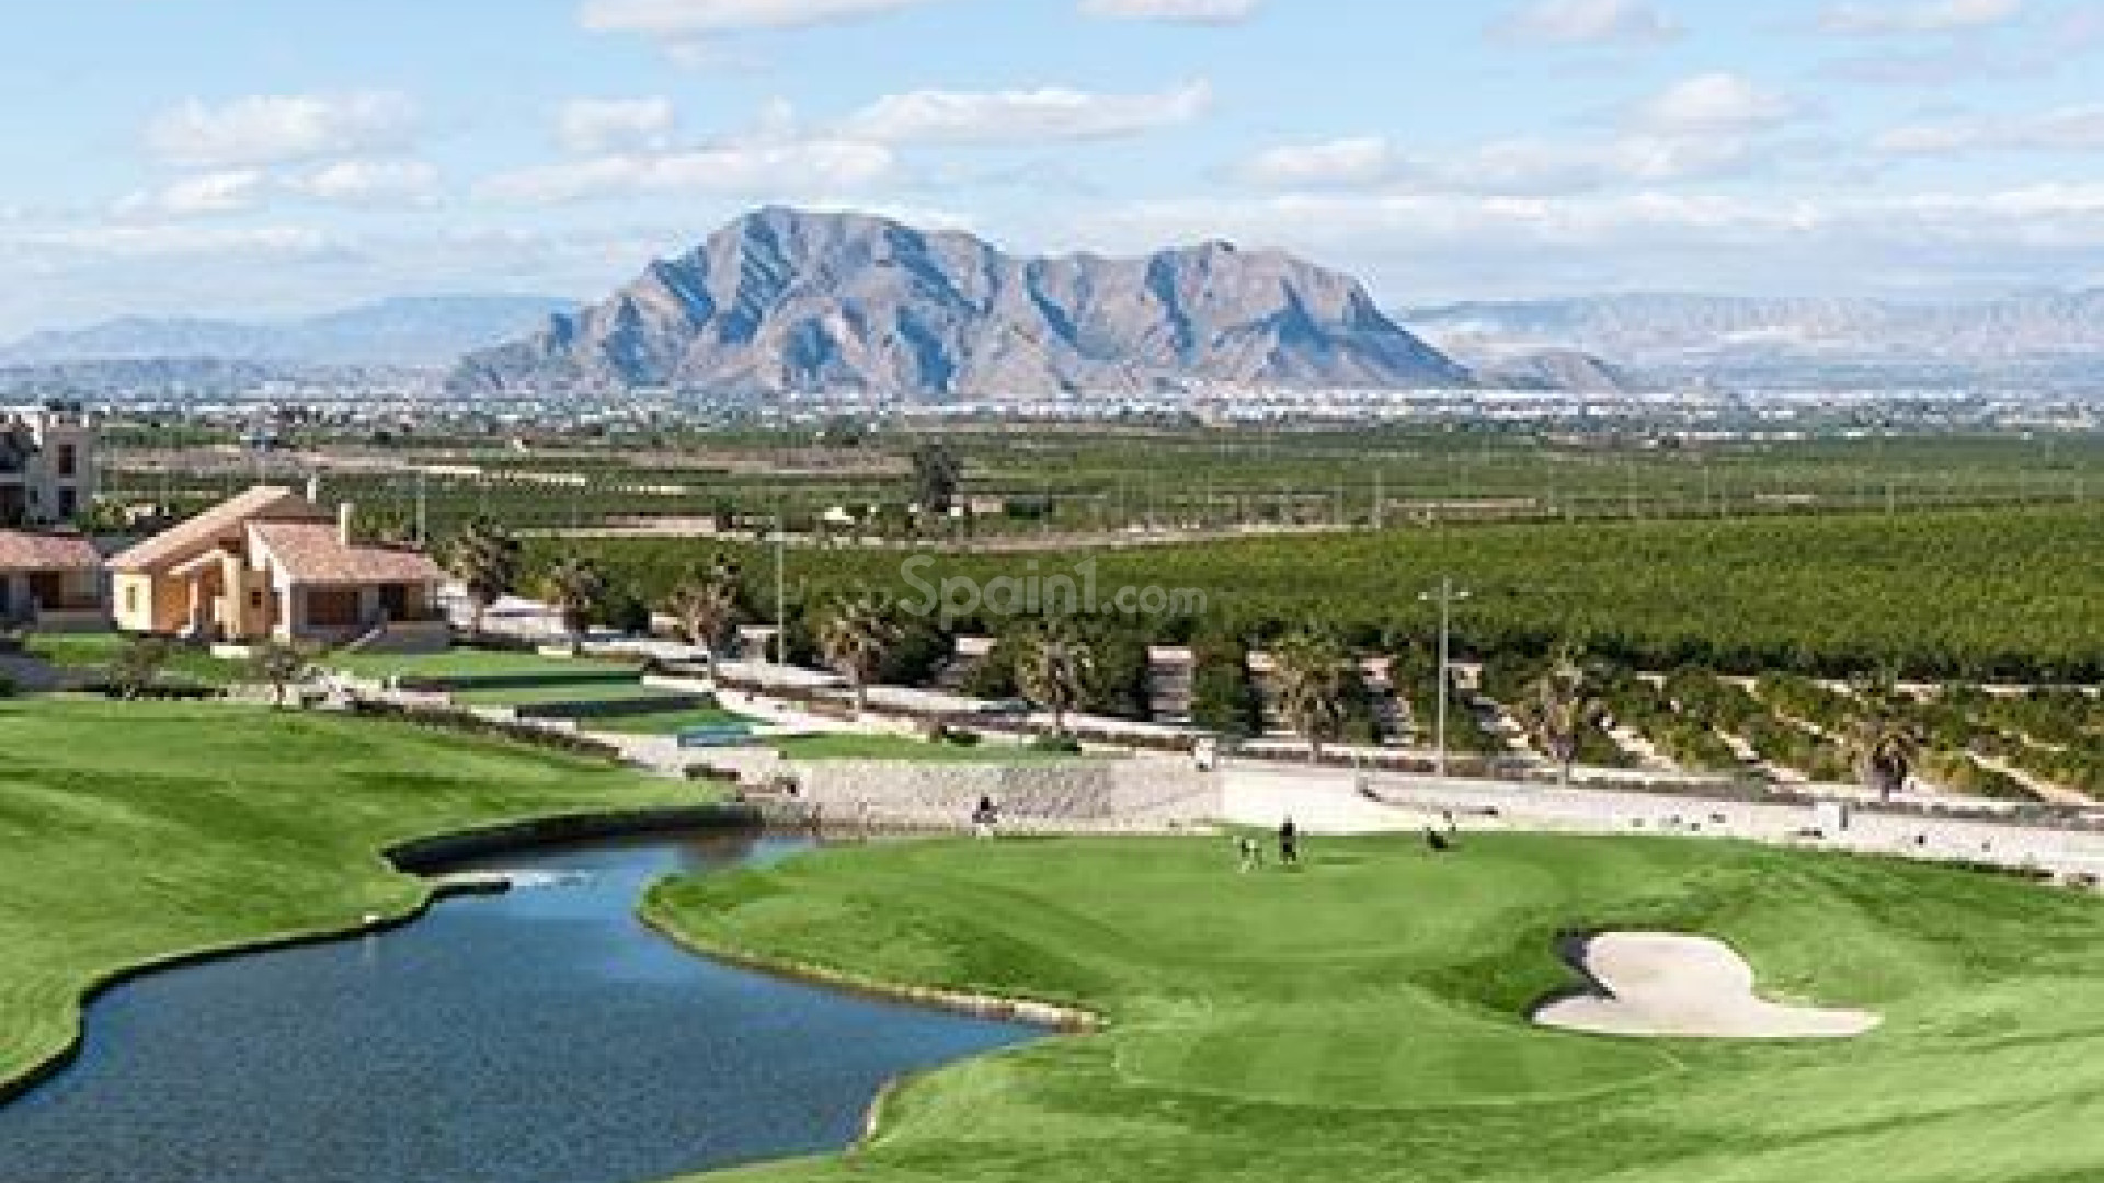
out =
[(423, 899), (379, 850), (684, 785), (404, 726), (223, 705), (0, 703), (0, 1080), (74, 1034), (95, 981), (324, 933)]

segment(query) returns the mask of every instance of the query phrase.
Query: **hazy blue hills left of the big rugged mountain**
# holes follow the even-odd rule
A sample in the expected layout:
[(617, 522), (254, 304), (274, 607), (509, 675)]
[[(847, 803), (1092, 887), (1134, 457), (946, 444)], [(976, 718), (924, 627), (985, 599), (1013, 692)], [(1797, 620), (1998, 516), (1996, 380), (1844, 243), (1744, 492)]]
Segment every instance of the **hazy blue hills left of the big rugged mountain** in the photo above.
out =
[(0, 347), (6, 366), (215, 360), (292, 366), (448, 366), (576, 307), (549, 297), (404, 297), (305, 320), (244, 324), (130, 316)]

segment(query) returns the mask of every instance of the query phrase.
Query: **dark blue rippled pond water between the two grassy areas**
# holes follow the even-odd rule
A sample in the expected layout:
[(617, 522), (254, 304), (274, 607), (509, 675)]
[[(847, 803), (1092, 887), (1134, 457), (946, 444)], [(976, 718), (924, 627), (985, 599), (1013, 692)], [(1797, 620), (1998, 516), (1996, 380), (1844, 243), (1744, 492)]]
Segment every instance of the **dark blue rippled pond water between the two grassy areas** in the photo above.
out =
[(595, 842), (576, 882), (147, 977), (0, 1107), (0, 1183), (644, 1183), (854, 1141), (903, 1071), (1035, 1036), (699, 960), (635, 920), (671, 871), (795, 850)]

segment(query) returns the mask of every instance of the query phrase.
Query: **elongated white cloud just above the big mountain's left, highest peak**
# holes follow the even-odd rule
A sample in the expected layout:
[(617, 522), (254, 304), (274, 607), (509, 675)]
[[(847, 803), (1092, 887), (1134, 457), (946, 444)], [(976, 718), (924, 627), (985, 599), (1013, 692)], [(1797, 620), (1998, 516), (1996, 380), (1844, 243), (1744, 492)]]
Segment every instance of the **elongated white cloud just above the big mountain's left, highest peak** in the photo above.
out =
[(751, 143), (667, 154), (621, 154), (503, 173), (480, 192), (505, 202), (576, 202), (665, 194), (778, 200), (861, 189), (892, 173), (888, 147), (839, 139)]

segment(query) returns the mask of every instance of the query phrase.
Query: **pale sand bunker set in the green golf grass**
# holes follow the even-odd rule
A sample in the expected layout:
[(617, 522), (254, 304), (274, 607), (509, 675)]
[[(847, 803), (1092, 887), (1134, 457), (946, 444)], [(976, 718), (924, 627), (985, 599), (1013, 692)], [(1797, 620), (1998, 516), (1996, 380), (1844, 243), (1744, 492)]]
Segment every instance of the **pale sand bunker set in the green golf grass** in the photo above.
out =
[(1544, 1027), (1677, 1040), (1847, 1040), (1877, 1027), (1866, 1010), (1776, 1006), (1729, 945), (1673, 933), (1589, 937), (1574, 958), (1597, 994), (1534, 1012)]

